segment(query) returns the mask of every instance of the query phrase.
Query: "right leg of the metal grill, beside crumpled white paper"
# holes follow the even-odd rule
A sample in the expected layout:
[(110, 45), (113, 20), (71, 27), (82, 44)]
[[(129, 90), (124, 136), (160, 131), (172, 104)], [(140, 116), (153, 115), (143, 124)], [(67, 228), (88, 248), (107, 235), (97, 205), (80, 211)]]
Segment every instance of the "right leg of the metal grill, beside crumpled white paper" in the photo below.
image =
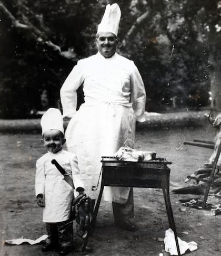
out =
[(166, 211), (167, 211), (167, 216), (168, 216), (168, 221), (169, 221), (169, 227), (174, 232), (176, 248), (177, 248), (178, 255), (180, 256), (181, 254), (180, 254), (180, 250), (179, 250), (179, 243), (178, 243), (178, 238), (177, 238), (177, 233), (176, 233), (176, 226), (175, 226), (175, 222), (174, 222), (174, 215), (173, 215), (173, 210), (172, 210), (172, 206), (171, 206), (170, 198), (169, 198), (169, 187), (166, 186), (166, 188), (165, 188), (165, 186), (162, 186), (162, 189), (163, 189), (164, 201), (165, 201)]

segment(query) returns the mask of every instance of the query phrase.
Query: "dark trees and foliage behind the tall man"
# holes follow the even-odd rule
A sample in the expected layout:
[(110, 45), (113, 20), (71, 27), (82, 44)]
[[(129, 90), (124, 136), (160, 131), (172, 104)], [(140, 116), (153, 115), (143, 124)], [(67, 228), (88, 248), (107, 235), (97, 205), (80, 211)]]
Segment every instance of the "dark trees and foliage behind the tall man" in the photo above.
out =
[[(59, 89), (77, 60), (96, 53), (97, 24), (114, 2), (122, 10), (118, 51), (142, 74), (146, 109), (210, 104), (221, 73), (220, 1), (2, 0), (1, 118), (58, 107)], [(79, 96), (78, 105), (81, 88)]]

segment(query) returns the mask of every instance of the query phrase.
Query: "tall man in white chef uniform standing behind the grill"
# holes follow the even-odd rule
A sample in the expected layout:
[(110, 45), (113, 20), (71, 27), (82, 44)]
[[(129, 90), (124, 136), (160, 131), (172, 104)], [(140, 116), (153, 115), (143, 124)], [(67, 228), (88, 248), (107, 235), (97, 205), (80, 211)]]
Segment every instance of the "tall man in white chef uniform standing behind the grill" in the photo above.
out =
[[(120, 15), (117, 4), (106, 6), (97, 29), (97, 54), (79, 60), (61, 88), (63, 117), (71, 118), (67, 148), (77, 155), (86, 193), (94, 200), (101, 157), (113, 156), (122, 146), (133, 148), (135, 122), (145, 121), (143, 80), (134, 62), (116, 53)], [(81, 84), (85, 103), (76, 111)], [(135, 231), (133, 189), (105, 187), (104, 199), (112, 201), (115, 224)]]

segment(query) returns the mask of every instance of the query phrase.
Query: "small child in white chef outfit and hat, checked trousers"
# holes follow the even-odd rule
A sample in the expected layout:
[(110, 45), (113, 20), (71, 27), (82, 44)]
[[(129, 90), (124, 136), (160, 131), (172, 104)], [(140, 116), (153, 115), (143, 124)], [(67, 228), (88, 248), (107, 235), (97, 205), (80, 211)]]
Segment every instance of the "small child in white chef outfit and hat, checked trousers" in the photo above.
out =
[(42, 116), (42, 143), (47, 153), (36, 162), (35, 192), (37, 204), (43, 207), (48, 238), (42, 251), (59, 249), (60, 255), (73, 250), (73, 220), (71, 219), (74, 191), (59, 172), (52, 160), (61, 165), (66, 175), (73, 179), (79, 194), (84, 193), (77, 157), (63, 150), (65, 143), (63, 118), (58, 109), (50, 108)]

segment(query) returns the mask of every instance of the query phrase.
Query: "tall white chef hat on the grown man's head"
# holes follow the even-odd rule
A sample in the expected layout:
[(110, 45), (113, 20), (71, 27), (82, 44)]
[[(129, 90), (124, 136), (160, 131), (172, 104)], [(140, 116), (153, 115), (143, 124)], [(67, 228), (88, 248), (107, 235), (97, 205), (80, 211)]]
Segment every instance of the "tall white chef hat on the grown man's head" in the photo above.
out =
[(101, 23), (98, 25), (97, 33), (99, 32), (112, 32), (117, 36), (119, 21), (120, 21), (120, 8), (118, 4), (108, 4), (106, 6), (104, 16)]

